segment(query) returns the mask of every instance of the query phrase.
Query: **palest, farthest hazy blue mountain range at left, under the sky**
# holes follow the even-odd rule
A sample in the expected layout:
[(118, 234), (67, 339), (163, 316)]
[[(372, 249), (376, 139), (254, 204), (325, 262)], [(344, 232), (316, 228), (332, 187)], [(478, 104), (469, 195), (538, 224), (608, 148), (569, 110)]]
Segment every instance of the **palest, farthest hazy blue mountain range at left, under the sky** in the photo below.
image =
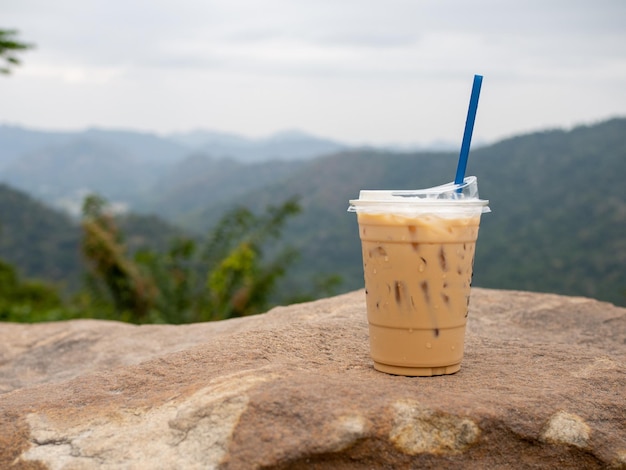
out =
[[(3, 125), (0, 126), (0, 181), (74, 215), (88, 192), (102, 194), (120, 207), (143, 210), (161, 207), (168, 192), (173, 192), (173, 200), (179, 202), (166, 203), (170, 206), (167, 210), (178, 212), (177, 206), (183, 204), (186, 211), (192, 211), (194, 203), (202, 198), (217, 201), (269, 182), (268, 171), (274, 170), (263, 168), (269, 160), (283, 160), (282, 167), (287, 168), (290, 162), (342, 148), (345, 145), (298, 131), (248, 139), (212, 131), (161, 137), (126, 130), (55, 133)], [(198, 155), (220, 163), (197, 168), (204, 173), (192, 178), (195, 187), (185, 182), (187, 188), (178, 188), (177, 175), (186, 174), (194, 167)], [(244, 168), (244, 163), (258, 165), (259, 178), (245, 177), (248, 170), (256, 170)], [(278, 168), (281, 164), (272, 165), (282, 174)], [(233, 168), (237, 168), (241, 178), (232, 173)], [(222, 174), (224, 184), (219, 184)], [(189, 191), (196, 191), (196, 196), (185, 194)]]

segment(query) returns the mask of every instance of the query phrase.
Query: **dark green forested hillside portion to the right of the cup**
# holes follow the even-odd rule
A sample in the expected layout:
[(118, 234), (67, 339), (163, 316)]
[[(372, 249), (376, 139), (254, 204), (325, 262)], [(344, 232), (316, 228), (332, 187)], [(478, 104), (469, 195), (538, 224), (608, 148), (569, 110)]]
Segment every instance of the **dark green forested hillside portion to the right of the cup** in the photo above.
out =
[(626, 305), (626, 120), (517, 137), (475, 157), (494, 211), (477, 285)]

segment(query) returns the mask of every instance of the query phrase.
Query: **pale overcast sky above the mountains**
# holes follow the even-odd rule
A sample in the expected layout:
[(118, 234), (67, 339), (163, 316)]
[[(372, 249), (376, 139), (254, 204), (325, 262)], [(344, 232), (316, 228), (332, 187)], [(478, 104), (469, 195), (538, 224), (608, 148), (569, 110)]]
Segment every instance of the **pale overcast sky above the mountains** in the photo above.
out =
[(0, 124), (352, 144), (474, 141), (626, 116), (623, 0), (0, 0), (36, 48)]

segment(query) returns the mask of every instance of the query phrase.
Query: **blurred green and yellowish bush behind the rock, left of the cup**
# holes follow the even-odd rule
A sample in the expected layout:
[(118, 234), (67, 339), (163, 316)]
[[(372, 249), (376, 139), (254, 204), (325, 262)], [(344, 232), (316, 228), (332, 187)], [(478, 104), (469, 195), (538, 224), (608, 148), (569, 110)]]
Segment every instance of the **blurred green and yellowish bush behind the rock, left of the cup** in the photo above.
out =
[(83, 209), (82, 251), (88, 262), (87, 310), (135, 323), (188, 323), (252, 315), (266, 310), (276, 281), (295, 253), (283, 248), (270, 261), (264, 246), (279, 238), (294, 199), (262, 215), (238, 208), (198, 242), (175, 239), (169, 250), (131, 256), (105, 201), (89, 196)]

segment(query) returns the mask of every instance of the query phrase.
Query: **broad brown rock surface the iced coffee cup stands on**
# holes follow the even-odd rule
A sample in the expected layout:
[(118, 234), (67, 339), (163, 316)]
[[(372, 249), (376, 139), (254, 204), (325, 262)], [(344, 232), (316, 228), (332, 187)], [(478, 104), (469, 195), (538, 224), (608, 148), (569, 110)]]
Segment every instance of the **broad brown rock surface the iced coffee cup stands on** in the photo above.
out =
[(0, 468), (626, 468), (626, 309), (474, 289), (455, 375), (373, 369), (362, 291), (184, 326), (0, 325)]

